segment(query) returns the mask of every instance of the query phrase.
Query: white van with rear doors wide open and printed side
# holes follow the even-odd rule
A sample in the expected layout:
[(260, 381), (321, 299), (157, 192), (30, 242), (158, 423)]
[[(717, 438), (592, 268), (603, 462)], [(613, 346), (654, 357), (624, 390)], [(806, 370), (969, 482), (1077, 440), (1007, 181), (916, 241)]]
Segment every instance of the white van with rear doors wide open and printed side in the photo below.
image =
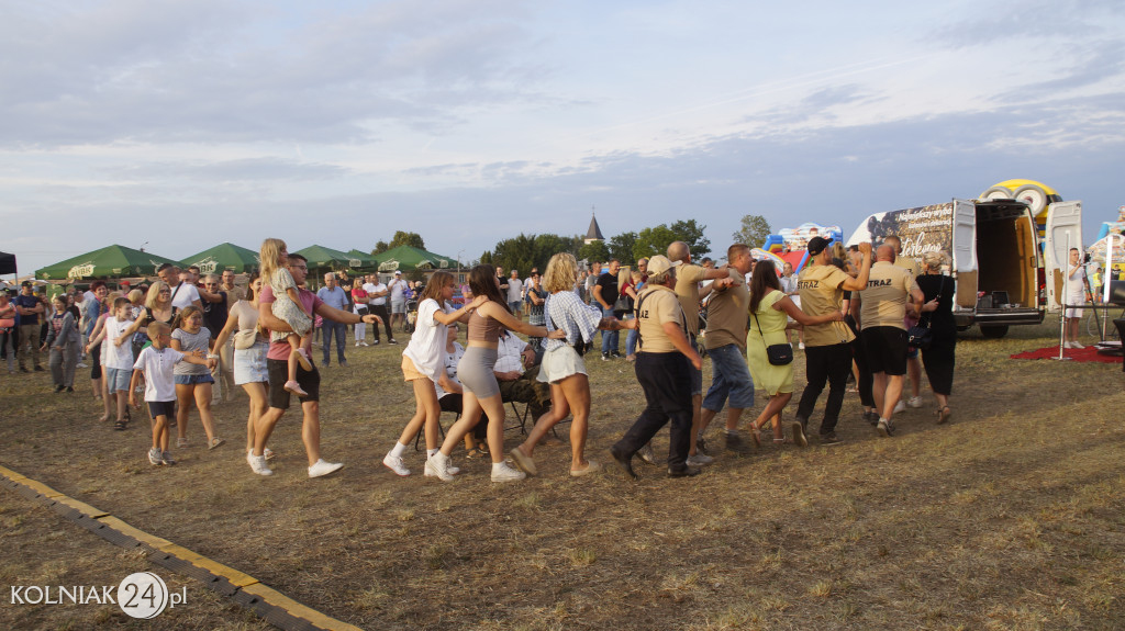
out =
[(999, 338), (1009, 326), (1038, 324), (1046, 311), (1061, 309), (1068, 248), (1082, 248), (1082, 202), (1052, 203), (1041, 236), (1023, 201), (954, 199), (872, 214), (847, 245), (891, 235), (902, 240), (903, 256), (950, 254), (957, 327), (978, 324), (984, 337)]

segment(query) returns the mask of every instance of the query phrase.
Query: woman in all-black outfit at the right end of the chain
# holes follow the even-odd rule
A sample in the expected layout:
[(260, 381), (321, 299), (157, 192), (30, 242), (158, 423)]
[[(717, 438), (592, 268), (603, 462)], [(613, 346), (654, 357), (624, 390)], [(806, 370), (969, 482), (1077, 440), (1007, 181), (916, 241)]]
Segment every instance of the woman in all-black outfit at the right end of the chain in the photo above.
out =
[(950, 420), (950, 394), (953, 392), (953, 368), (956, 364), (957, 324), (953, 320), (953, 278), (942, 273), (948, 262), (944, 252), (928, 252), (921, 257), (922, 273), (915, 278), (922, 293), (920, 326), (929, 326), (929, 348), (921, 351), (921, 364), (929, 387), (937, 399), (938, 423)]

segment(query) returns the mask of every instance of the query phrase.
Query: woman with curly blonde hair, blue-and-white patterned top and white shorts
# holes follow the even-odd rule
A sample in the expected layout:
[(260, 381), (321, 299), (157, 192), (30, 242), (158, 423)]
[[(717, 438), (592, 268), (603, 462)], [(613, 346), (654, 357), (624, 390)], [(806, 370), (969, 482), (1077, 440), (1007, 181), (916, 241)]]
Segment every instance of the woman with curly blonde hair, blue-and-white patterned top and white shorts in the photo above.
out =
[(539, 381), (551, 384), (551, 409), (539, 417), (526, 440), (511, 451), (512, 460), (528, 475), (538, 473), (532, 458), (536, 445), (572, 413), (570, 476), (578, 477), (602, 468), (602, 465), (585, 457), (586, 435), (590, 431), (590, 377), (586, 364), (575, 347), (593, 340), (598, 329), (619, 331), (631, 327), (613, 318), (603, 318), (601, 310), (584, 303), (574, 293), (577, 281), (578, 263), (574, 256), (556, 254), (547, 263), (543, 283), (548, 292), (544, 307), (547, 330), (561, 331), (565, 337), (546, 341), (547, 351), (539, 366)]

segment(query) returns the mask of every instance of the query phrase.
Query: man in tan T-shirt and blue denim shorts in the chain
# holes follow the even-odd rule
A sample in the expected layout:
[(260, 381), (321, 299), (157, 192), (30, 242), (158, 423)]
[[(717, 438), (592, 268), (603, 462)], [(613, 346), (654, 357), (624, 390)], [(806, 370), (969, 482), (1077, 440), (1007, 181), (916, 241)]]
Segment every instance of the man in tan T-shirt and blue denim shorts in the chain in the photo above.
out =
[[(703, 397), (700, 435), (706, 429), (723, 404), (727, 408), (727, 448), (741, 446), (738, 419), (742, 410), (754, 405), (754, 378), (746, 367), (746, 310), (750, 292), (746, 273), (750, 271), (750, 248), (735, 244), (727, 248), (728, 276), (711, 283), (711, 302), (708, 305), (706, 335), (703, 344), (711, 356), (711, 387)], [(692, 466), (705, 465), (710, 458), (696, 454), (687, 458)]]

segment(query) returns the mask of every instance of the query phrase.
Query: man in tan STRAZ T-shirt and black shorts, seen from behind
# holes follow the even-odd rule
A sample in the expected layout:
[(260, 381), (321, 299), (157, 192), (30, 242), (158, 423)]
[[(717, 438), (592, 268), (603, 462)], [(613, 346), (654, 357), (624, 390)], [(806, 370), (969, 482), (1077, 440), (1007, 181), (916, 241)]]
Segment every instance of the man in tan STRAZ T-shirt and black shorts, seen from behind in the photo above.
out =
[(894, 248), (883, 244), (875, 250), (867, 289), (860, 292), (860, 320), (867, 366), (875, 377), (873, 394), (879, 409), (879, 433), (894, 433), (891, 417), (902, 397), (907, 374), (907, 301), (921, 312), (922, 293), (909, 269), (894, 265)]

